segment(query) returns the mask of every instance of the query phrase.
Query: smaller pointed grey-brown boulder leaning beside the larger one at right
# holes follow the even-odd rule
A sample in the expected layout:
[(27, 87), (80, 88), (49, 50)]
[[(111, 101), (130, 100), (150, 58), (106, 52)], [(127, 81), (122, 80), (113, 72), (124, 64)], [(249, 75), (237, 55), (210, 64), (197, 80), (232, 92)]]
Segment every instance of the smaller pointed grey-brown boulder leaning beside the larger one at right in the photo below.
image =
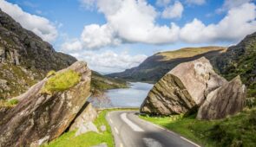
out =
[(207, 95), (207, 99), (200, 106), (197, 118), (219, 119), (226, 118), (242, 111), (246, 100), (246, 86), (237, 76), (223, 86)]

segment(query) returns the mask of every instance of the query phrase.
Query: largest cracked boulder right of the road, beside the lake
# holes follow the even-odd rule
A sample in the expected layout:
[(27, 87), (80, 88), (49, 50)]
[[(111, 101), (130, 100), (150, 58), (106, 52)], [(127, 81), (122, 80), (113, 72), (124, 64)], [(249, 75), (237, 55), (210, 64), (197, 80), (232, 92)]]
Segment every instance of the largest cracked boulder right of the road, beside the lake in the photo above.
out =
[(188, 112), (226, 80), (202, 57), (181, 63), (159, 80), (141, 105), (141, 112), (161, 115)]

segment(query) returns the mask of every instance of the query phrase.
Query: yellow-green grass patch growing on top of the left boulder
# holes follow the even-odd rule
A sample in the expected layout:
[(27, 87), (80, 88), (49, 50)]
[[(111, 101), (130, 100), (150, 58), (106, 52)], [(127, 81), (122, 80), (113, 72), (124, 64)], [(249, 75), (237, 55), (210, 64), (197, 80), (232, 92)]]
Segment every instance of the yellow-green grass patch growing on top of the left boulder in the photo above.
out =
[[(51, 72), (52, 73), (52, 72)], [(75, 86), (81, 79), (81, 75), (73, 70), (57, 73), (45, 83), (42, 93), (62, 92)]]

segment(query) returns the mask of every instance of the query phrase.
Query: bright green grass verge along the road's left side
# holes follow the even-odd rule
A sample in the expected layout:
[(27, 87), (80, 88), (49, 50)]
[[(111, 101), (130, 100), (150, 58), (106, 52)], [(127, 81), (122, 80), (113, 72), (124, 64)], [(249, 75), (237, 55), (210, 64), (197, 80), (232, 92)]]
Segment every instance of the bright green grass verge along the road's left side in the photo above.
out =
[(98, 118), (95, 119), (94, 124), (98, 127), (99, 131), (101, 125), (105, 125), (107, 127), (107, 131), (99, 134), (90, 131), (77, 137), (75, 137), (75, 131), (69, 131), (64, 133), (61, 137), (58, 137), (56, 140), (52, 141), (48, 145), (45, 145), (45, 147), (89, 147), (102, 143), (108, 144), (108, 147), (114, 147), (114, 137), (112, 136), (111, 128), (106, 120), (106, 115), (108, 112), (117, 110), (120, 109), (103, 110), (99, 113)]

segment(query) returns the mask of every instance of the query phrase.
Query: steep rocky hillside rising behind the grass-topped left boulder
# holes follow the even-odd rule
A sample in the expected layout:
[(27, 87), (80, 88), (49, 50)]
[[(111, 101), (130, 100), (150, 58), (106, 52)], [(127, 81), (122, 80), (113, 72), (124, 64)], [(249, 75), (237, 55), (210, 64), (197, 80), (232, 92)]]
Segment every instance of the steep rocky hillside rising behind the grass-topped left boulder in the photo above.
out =
[(75, 61), (0, 10), (0, 99), (23, 93), (49, 70), (69, 67)]

